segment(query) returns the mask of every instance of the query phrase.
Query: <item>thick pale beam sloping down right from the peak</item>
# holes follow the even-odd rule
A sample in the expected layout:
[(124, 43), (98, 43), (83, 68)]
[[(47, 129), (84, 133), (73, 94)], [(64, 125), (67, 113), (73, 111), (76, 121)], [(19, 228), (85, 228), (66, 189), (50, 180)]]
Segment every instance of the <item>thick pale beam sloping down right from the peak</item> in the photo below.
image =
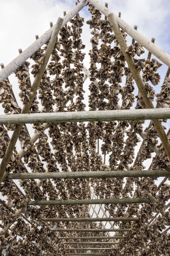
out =
[[(91, 4), (93, 4), (100, 12), (102, 12), (105, 16), (113, 15), (109, 9), (107, 9), (102, 3), (99, 3), (98, 0), (89, 0)], [(141, 44), (144, 48), (146, 48), (149, 52), (159, 58), (164, 62), (168, 67), (170, 67), (170, 55), (167, 52), (164, 52), (161, 48), (150, 42), (147, 38), (145, 38), (138, 31), (133, 29), (129, 24), (127, 24), (124, 20), (115, 15), (115, 20), (119, 27), (123, 29), (128, 35), (130, 35), (135, 41)], [(115, 33), (114, 33), (115, 34)], [(119, 44), (120, 45), (120, 44)]]

